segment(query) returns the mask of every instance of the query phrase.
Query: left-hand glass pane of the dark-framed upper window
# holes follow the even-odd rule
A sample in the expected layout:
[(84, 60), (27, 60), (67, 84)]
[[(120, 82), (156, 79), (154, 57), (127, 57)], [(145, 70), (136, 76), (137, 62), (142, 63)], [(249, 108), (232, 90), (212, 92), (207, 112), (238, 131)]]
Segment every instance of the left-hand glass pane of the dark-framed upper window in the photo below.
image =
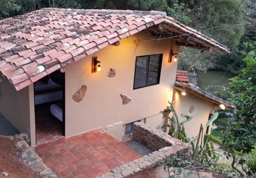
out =
[(134, 87), (146, 86), (147, 61), (149, 56), (137, 57)]

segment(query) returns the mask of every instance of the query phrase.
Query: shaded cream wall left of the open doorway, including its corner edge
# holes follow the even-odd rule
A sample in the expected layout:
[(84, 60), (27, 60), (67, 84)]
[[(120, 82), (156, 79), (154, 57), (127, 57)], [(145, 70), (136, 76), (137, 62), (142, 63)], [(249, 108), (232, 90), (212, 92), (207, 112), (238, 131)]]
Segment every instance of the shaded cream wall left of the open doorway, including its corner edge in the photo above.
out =
[(28, 132), (35, 144), (35, 118), (33, 85), (16, 91), (13, 85), (0, 76), (0, 113), (20, 132)]

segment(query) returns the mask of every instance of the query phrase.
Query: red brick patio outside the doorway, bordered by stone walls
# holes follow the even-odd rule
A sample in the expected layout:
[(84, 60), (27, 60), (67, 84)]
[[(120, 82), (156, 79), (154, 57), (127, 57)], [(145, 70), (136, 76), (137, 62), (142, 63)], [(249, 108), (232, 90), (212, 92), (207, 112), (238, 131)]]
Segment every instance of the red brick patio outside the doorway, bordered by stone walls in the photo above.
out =
[(58, 177), (96, 177), (142, 157), (102, 130), (90, 131), (36, 152)]

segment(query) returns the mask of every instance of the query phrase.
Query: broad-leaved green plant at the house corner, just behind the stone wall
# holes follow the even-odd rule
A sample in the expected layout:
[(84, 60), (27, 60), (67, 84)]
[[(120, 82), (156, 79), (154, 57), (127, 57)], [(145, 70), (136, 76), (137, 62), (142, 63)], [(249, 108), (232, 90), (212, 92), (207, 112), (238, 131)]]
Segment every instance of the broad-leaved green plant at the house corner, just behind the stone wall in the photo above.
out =
[(183, 142), (188, 142), (188, 139), (186, 137), (184, 123), (190, 121), (192, 117), (189, 117), (187, 115), (181, 114), (181, 116), (185, 119), (184, 121), (179, 121), (178, 115), (176, 113), (176, 110), (174, 108), (174, 103), (168, 102), (169, 106), (166, 107), (163, 111), (160, 113), (163, 114), (163, 118), (169, 120), (169, 124), (163, 125), (162, 127), (168, 127), (169, 131), (168, 134), (174, 138), (177, 138), (179, 140), (182, 140)]

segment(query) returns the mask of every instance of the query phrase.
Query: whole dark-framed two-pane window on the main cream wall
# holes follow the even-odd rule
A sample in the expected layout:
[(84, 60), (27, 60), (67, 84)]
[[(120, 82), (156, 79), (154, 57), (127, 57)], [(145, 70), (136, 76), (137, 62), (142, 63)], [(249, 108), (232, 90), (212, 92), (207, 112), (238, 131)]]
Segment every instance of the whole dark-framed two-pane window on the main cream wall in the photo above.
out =
[(159, 84), (163, 54), (136, 57), (134, 89)]

